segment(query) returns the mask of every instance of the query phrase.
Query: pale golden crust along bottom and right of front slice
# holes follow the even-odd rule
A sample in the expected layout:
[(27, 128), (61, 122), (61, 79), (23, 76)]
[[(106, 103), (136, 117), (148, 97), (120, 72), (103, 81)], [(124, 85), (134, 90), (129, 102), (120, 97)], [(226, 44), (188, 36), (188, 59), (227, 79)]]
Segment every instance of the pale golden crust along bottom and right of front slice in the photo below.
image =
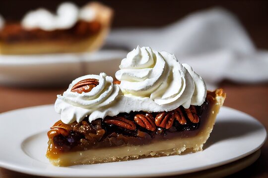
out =
[[(217, 91), (215, 92), (217, 93)], [(200, 126), (196, 136), (172, 138), (167, 140), (155, 140), (140, 146), (119, 146), (109, 148), (91, 149), (85, 151), (68, 152), (59, 155), (56, 159), (50, 159), (55, 166), (72, 166), (81, 164), (106, 163), (115, 161), (126, 161), (144, 157), (158, 157), (168, 155), (180, 155), (183, 152), (198, 152), (202, 150), (203, 144), (212, 132), (216, 115), (225, 99), (225, 93), (216, 95), (215, 101), (210, 106), (208, 118)]]

